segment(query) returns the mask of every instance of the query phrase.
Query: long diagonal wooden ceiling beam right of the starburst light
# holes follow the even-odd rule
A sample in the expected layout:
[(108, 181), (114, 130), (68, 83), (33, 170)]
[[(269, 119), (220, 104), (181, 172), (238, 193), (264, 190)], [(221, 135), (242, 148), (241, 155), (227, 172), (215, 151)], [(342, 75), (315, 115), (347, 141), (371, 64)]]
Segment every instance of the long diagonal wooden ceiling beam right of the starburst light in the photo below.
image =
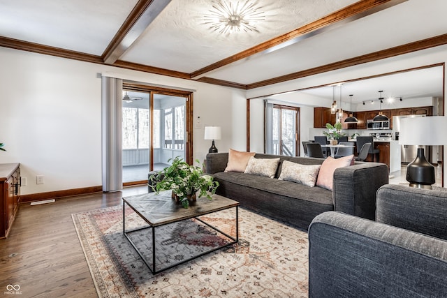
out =
[(389, 8), (390, 6), (395, 6), (404, 1), (408, 0), (358, 1), (356, 3), (351, 4), (350, 6), (346, 6), (345, 8), (337, 10), (335, 13), (331, 13), (330, 15), (322, 17), (321, 19), (316, 20), (315, 22), (306, 24), (305, 26), (302, 26), (284, 35), (272, 38), (271, 40), (265, 41), (264, 43), (251, 47), (248, 50), (244, 50), (240, 53), (234, 54), (233, 56), (222, 59), (221, 61), (217, 61), (214, 64), (210, 64), (209, 66), (205, 66), (204, 68), (196, 70), (193, 73), (191, 73), (191, 78), (198, 79), (200, 77), (207, 75), (213, 70), (217, 70), (218, 68), (221, 68), (228, 64), (232, 64), (235, 61), (240, 61), (242, 59), (253, 57), (254, 54), (260, 54), (260, 53), (268, 54), (269, 52), (279, 50), (282, 47), (293, 45), (294, 43), (298, 43), (300, 40), (304, 40), (311, 36), (315, 36), (318, 33), (322, 33), (324, 31), (327, 31), (328, 29), (333, 29), (335, 27), (341, 26), (342, 24), (352, 22), (353, 20), (358, 20), (361, 17), (371, 15), (380, 10), (384, 10), (386, 8)]

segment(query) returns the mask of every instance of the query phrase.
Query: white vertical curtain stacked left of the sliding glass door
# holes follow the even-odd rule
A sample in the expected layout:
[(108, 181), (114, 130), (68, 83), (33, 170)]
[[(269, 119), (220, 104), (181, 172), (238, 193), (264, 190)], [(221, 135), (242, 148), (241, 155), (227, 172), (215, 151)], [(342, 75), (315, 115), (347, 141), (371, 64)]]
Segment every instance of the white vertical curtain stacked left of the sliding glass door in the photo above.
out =
[(119, 191), (122, 177), (123, 80), (102, 77), (103, 191)]

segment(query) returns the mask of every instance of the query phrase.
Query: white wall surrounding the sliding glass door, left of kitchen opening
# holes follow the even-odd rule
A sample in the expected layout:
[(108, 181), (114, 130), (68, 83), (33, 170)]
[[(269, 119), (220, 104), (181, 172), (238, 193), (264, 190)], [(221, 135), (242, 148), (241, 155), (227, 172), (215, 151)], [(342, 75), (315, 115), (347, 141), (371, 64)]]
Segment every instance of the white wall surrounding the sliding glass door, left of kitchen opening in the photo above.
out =
[(24, 195), (101, 186), (100, 73), (193, 90), (194, 158), (211, 145), (200, 125), (222, 127), (219, 151), (246, 146), (245, 91), (3, 47), (0, 65), (0, 163), (21, 163)]

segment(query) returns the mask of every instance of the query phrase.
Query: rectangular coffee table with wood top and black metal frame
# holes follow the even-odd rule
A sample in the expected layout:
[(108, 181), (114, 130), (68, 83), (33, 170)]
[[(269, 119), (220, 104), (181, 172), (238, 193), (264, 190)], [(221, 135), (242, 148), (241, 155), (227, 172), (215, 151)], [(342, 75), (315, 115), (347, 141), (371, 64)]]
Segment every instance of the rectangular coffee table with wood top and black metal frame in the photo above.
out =
[[(129, 206), (136, 214), (145, 222), (144, 225), (139, 225), (137, 228), (132, 228), (126, 230), (126, 205)], [(212, 200), (207, 198), (198, 198), (196, 204), (190, 206), (188, 209), (182, 207), (182, 204), (176, 204), (171, 198), (171, 191), (160, 192), (158, 195), (155, 193), (145, 193), (142, 195), (133, 195), (131, 197), (123, 198), (123, 233), (124, 236), (129, 240), (135, 251), (140, 255), (140, 258), (145, 262), (152, 274), (159, 273), (160, 271), (170, 269), (184, 262), (188, 262), (195, 258), (198, 258), (212, 251), (217, 251), (225, 246), (230, 246), (237, 241), (239, 241), (239, 221), (238, 221), (238, 207), (239, 202), (235, 200), (230, 200), (221, 195), (213, 195)], [(212, 214), (214, 212), (223, 211), (226, 209), (235, 208), (235, 237), (222, 232), (218, 228), (214, 227), (210, 223), (205, 223), (200, 216), (205, 214)], [(206, 248), (206, 250), (201, 250), (197, 255), (193, 255), (191, 258), (186, 260), (180, 260), (179, 262), (169, 263), (169, 265), (161, 267), (160, 264), (157, 265), (157, 253), (161, 253), (160, 247), (157, 247), (156, 240), (156, 228), (160, 228), (163, 225), (169, 225), (172, 223), (177, 223), (180, 221), (191, 221), (191, 218), (203, 223), (204, 225), (212, 228), (212, 230), (218, 232), (228, 239), (225, 244), (220, 246), (211, 246)], [(145, 234), (144, 245), (140, 243), (135, 243), (132, 234), (138, 232)], [(160, 235), (159, 235), (160, 237)], [(152, 260), (148, 260), (148, 258)]]

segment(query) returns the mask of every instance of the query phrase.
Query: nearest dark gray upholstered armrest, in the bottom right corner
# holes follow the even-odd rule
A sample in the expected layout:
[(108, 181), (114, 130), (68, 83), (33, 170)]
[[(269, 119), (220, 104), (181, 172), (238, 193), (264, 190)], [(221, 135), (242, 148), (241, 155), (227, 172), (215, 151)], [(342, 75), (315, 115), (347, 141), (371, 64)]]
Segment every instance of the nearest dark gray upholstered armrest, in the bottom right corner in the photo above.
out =
[(446, 297), (447, 241), (329, 211), (309, 226), (309, 297)]

